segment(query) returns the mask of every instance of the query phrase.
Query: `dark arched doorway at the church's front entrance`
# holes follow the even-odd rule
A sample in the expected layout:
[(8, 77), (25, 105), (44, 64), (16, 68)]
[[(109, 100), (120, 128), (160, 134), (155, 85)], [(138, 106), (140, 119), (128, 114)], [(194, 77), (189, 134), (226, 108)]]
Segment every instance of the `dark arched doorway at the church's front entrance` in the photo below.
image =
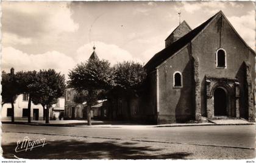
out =
[(223, 88), (214, 91), (214, 115), (227, 116), (227, 94)]

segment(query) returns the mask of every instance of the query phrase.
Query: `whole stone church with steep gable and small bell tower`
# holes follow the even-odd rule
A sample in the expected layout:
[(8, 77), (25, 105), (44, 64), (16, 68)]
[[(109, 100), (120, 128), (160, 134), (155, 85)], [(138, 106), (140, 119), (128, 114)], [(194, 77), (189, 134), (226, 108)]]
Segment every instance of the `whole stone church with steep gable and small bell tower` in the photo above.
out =
[(222, 11), (193, 30), (180, 23), (144, 68), (144, 113), (155, 123), (255, 120), (255, 52)]

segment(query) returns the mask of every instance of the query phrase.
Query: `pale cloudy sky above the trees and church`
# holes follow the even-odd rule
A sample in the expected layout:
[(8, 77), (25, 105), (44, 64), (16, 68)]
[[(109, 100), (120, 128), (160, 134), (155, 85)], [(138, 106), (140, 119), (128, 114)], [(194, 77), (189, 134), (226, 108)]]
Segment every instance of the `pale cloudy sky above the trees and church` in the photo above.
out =
[(192, 29), (222, 10), (254, 49), (253, 2), (2, 2), (1, 69), (55, 69), (65, 74), (88, 60), (146, 64), (165, 47), (166, 37), (185, 20)]

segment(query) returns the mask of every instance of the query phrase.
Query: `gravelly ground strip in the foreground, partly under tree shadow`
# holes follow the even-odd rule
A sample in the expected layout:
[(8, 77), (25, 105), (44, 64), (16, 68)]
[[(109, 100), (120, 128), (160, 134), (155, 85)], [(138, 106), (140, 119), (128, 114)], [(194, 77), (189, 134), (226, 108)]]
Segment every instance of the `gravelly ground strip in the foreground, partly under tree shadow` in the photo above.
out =
[[(46, 138), (44, 147), (15, 152), (16, 142)], [(76, 136), (2, 133), (4, 158), (26, 159), (252, 159), (255, 150), (199, 145), (137, 142)]]

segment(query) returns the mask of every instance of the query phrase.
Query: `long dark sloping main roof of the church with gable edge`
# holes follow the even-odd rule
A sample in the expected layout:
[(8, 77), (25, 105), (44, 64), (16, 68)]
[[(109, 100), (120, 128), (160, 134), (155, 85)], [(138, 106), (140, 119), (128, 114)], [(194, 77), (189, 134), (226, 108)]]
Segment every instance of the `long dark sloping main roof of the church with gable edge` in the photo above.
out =
[[(147, 72), (154, 71), (154, 69), (158, 65), (163, 63), (163, 61), (165, 61), (166, 59), (168, 59), (172, 55), (176, 54), (176, 52), (178, 52), (180, 49), (182, 49), (182, 47), (185, 47), (188, 43), (190, 43), (193, 40), (193, 38), (195, 38), (197, 35), (199, 35), (202, 32), (202, 30), (204, 30), (208, 26), (208, 24), (210, 24), (210, 22), (212, 22), (213, 19), (218, 17), (218, 15), (223, 15), (224, 18), (226, 18), (226, 16), (222, 13), (222, 11), (219, 11), (214, 16), (209, 18), (207, 21), (202, 23), (200, 26), (198, 26), (195, 29), (191, 30), (186, 35), (182, 36), (182, 38), (180, 38), (179, 40), (177, 40), (174, 43), (170, 44), (165, 49), (163, 49), (160, 52), (158, 52), (157, 54), (155, 54), (151, 58), (151, 60), (149, 60), (148, 63), (145, 64), (144, 68), (146, 68), (146, 71)], [(227, 22), (229, 22), (229, 21), (227, 21)], [(231, 24), (230, 24), (230, 26), (232, 27)], [(233, 29), (233, 30), (235, 31), (235, 29)], [(235, 31), (235, 33), (238, 35), (238, 33), (236, 31)], [(241, 38), (240, 35), (238, 35), (238, 36)], [(244, 42), (244, 40), (242, 38), (241, 38), (241, 40)], [(249, 47), (245, 42), (244, 42), (244, 44), (250, 50), (252, 50), (251, 47)], [(255, 54), (254, 50), (252, 50), (252, 52)]]

